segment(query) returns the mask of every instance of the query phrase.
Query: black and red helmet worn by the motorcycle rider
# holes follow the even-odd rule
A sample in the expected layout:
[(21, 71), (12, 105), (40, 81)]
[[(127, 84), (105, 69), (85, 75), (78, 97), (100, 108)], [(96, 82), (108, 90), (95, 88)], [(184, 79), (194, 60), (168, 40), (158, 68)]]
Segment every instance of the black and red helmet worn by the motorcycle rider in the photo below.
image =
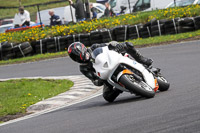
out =
[(78, 63), (86, 63), (89, 60), (87, 48), (81, 42), (74, 42), (68, 47), (68, 54), (72, 60)]

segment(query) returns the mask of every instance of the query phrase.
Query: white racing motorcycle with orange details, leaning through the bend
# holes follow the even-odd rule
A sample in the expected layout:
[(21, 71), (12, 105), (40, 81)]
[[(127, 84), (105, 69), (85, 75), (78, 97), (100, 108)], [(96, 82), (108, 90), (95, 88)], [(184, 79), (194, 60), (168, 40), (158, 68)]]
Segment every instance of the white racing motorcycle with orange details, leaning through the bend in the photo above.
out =
[(92, 52), (96, 75), (115, 89), (145, 98), (153, 98), (159, 91), (167, 91), (170, 83), (159, 68), (146, 68), (134, 59), (114, 51), (108, 46)]

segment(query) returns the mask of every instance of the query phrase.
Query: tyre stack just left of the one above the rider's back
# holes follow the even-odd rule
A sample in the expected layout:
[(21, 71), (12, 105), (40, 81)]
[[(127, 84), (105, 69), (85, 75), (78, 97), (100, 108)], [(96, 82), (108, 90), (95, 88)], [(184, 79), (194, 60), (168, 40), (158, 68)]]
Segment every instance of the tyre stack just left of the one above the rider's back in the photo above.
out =
[(109, 29), (100, 29), (99, 32), (101, 33), (102, 36), (102, 43), (107, 43), (112, 41), (112, 32)]

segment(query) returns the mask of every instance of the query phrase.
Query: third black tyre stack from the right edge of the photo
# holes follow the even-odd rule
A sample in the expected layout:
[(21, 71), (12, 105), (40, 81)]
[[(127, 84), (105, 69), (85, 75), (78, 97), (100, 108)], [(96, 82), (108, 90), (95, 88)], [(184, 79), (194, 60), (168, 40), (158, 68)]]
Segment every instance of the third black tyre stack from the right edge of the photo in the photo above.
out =
[(171, 19), (171, 20), (167, 20), (165, 22), (165, 34), (177, 34), (177, 28), (178, 28), (178, 20), (180, 18), (175, 18), (175, 19)]

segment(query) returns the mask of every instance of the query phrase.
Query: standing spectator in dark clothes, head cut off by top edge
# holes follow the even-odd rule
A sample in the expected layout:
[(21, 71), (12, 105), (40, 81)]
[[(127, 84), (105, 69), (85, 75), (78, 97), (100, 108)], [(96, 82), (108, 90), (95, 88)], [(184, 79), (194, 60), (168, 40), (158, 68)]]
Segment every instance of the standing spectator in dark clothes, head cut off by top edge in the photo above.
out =
[(72, 0), (69, 0), (73, 8), (75, 8), (75, 15), (77, 22), (85, 20), (85, 10), (82, 0), (76, 0), (76, 3), (73, 3)]

